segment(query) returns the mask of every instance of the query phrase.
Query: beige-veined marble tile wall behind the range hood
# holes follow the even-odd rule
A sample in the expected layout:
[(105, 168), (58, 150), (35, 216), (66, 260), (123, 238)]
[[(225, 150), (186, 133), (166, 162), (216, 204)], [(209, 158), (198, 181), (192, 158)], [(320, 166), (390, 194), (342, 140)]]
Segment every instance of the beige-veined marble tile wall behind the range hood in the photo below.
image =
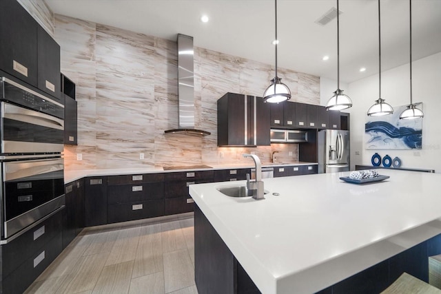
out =
[[(164, 135), (178, 126), (176, 42), (58, 14), (54, 38), (78, 101), (78, 146), (65, 146), (66, 170), (247, 163), (242, 154), (252, 151), (263, 162), (272, 151), (280, 151), (280, 161), (298, 159), (296, 144), (217, 147), (218, 98), (226, 92), (261, 96), (274, 75), (271, 65), (194, 48), (195, 127), (212, 134)], [(320, 103), (317, 76), (278, 73), (293, 101)]]

